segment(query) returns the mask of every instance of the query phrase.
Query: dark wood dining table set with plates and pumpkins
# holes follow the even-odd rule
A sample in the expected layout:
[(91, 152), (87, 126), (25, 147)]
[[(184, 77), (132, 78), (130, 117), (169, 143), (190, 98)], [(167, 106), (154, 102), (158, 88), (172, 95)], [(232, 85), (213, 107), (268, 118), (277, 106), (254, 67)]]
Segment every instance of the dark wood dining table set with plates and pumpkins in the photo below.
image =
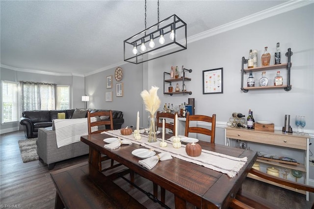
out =
[[(165, 137), (170, 136), (166, 134)], [(141, 158), (131, 154), (133, 150), (145, 147), (132, 143), (109, 150), (104, 147), (104, 139), (108, 137), (112, 136), (105, 133), (81, 136), (80, 140), (91, 148), (90, 163), (98, 169), (99, 156), (107, 155), (172, 192), (175, 195), (176, 209), (186, 208), (186, 202), (200, 209), (228, 208), (257, 158), (256, 152), (251, 150), (199, 141), (202, 149), (233, 157), (247, 157), (247, 163), (234, 178), (176, 157), (172, 160), (159, 161), (154, 168), (148, 170), (138, 163)]]

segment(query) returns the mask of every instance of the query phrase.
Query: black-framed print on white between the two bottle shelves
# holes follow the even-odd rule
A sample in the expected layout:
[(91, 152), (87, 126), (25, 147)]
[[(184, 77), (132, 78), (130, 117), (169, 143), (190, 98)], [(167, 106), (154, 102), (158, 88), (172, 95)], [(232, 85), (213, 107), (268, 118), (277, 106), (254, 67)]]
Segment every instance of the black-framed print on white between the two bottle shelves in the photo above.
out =
[(203, 94), (223, 93), (223, 68), (203, 70)]

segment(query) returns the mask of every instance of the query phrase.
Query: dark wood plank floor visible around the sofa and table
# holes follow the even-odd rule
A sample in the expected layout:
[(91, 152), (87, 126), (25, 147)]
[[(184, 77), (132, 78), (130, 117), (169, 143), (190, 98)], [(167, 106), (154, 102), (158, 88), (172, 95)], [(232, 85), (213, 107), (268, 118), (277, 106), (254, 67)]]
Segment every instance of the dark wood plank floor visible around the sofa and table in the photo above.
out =
[[(53, 209), (55, 188), (50, 172), (43, 162), (36, 160), (23, 163), (18, 140), (26, 139), (23, 131), (1, 134), (0, 138), (0, 204), (1, 208), (19, 205), (22, 209)], [(87, 161), (87, 156), (76, 157), (56, 163), (53, 170), (68, 167)], [(126, 176), (129, 178), (129, 176)], [(147, 208), (162, 208), (150, 200), (144, 193), (131, 187), (122, 179), (115, 181), (124, 190)], [(135, 183), (148, 192), (153, 191), (153, 184), (135, 175)], [(247, 178), (242, 189), (261, 196), (283, 209), (310, 208), (313, 198), (305, 200), (305, 195), (292, 192), (267, 183), (261, 183)], [(174, 197), (166, 191), (166, 204), (174, 208)], [(6, 206), (5, 206), (6, 205)], [(8, 208), (8, 207), (6, 207)]]

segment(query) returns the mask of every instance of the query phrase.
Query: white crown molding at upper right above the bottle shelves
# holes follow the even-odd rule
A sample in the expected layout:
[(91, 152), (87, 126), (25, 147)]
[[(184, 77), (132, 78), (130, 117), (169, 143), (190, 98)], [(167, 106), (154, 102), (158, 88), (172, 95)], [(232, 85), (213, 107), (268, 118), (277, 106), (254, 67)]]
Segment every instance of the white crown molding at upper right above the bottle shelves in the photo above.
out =
[(241, 26), (246, 26), (251, 23), (258, 22), (260, 20), (273, 17), (275, 15), (279, 15), (309, 4), (314, 3), (314, 0), (290, 0), (286, 3), (279, 4), (277, 6), (271, 7), (269, 9), (265, 9), (263, 11), (254, 13), (252, 15), (246, 16), (244, 18), (240, 18), (238, 20), (232, 21), (230, 23), (206, 30), (204, 32), (198, 33), (196, 35), (188, 37), (187, 42), (192, 43), (195, 41), (199, 41), (204, 38), (208, 38), (210, 36), (217, 35), (219, 33), (223, 33)]

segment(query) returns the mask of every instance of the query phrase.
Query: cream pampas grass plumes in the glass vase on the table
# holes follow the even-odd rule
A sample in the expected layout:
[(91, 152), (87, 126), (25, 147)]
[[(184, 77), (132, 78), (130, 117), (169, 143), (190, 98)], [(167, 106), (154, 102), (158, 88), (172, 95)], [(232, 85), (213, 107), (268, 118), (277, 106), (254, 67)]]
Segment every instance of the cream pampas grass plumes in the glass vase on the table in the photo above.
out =
[(161, 104), (161, 101), (159, 97), (157, 96), (158, 89), (159, 87), (152, 86), (149, 92), (147, 90), (144, 90), (141, 92), (141, 97), (146, 107), (145, 109), (151, 113), (151, 116), (155, 115), (155, 112), (157, 112)]

